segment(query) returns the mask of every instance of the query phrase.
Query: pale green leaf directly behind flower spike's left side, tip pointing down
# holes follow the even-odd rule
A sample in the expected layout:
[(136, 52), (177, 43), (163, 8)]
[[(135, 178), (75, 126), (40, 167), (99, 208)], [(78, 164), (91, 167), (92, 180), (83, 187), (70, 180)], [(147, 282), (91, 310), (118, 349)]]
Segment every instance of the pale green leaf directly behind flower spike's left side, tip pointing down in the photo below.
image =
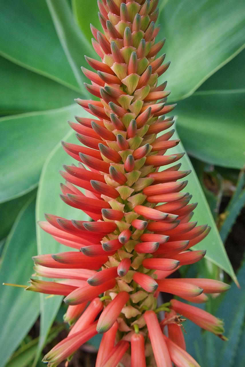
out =
[[(88, 114), (87, 114), (88, 116)], [(75, 134), (70, 131), (64, 140), (76, 143), (77, 139)], [(64, 218), (80, 220), (88, 220), (88, 216), (81, 212), (81, 210), (75, 209), (66, 205), (59, 198), (59, 183), (63, 181), (58, 170), (62, 169), (62, 164), (72, 164), (74, 159), (67, 155), (58, 144), (55, 149), (49, 155), (47, 161), (42, 170), (38, 196), (37, 196), (37, 207), (36, 207), (36, 219), (44, 220), (44, 213), (56, 214)], [(68, 251), (69, 247), (65, 247), (57, 243), (51, 235), (44, 232), (37, 226), (37, 246), (38, 254), (49, 254), (60, 251)], [(53, 320), (55, 319), (56, 313), (59, 310), (62, 302), (62, 297), (55, 296), (46, 298), (46, 295), (40, 294), (41, 299), (41, 320), (40, 320), (40, 341), (39, 341), (39, 353), (41, 352), (42, 346), (45, 343), (45, 339), (52, 326)], [(39, 354), (35, 362), (38, 359)]]

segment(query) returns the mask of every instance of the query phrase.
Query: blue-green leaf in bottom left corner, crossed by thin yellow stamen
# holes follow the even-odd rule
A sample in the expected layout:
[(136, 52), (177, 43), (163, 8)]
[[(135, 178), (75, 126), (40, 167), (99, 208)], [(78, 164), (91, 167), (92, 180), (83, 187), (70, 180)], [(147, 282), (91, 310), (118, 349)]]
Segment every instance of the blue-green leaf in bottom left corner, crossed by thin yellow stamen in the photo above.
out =
[[(36, 253), (35, 200), (31, 200), (19, 213), (5, 243), (0, 284), (27, 285), (33, 268), (31, 257)], [(36, 321), (40, 308), (37, 293), (0, 287), (0, 366), (3, 367)]]

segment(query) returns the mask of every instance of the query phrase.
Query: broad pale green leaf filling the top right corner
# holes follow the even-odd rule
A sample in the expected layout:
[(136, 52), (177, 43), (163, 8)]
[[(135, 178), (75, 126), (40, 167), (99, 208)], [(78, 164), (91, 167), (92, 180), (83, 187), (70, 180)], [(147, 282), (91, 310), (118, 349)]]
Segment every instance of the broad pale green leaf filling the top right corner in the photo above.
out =
[(159, 83), (168, 80), (169, 99), (177, 101), (244, 48), (244, 1), (171, 0), (161, 8), (159, 37), (171, 65)]

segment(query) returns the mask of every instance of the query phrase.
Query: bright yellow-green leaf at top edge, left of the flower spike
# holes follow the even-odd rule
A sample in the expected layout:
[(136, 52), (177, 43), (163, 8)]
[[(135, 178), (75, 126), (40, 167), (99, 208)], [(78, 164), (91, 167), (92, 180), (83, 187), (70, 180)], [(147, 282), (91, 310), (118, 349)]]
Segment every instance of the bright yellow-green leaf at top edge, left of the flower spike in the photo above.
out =
[(90, 23), (100, 31), (102, 27), (98, 18), (98, 5), (97, 0), (81, 1), (72, 0), (72, 9), (74, 17), (81, 28), (82, 32), (86, 38), (91, 42), (91, 37), (93, 37), (90, 30)]

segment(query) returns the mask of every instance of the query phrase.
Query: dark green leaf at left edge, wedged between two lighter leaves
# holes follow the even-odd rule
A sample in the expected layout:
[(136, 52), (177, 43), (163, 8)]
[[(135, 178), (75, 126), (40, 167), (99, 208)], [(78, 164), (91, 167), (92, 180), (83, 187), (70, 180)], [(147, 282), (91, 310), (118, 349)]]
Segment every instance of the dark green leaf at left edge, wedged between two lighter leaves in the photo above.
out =
[(67, 106), (77, 92), (0, 57), (0, 115)]

